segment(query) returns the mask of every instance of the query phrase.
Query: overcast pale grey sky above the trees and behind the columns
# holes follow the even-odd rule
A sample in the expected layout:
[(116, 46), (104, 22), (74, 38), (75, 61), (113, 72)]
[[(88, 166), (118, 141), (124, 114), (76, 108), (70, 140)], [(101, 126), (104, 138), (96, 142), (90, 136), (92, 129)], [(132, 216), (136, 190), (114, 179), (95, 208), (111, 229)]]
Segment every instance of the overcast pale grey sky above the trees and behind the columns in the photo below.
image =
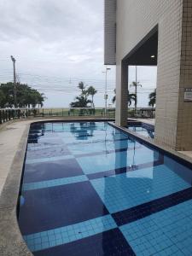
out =
[[(104, 107), (103, 0), (0, 0), (0, 82), (17, 80), (43, 92), (45, 108), (67, 108), (83, 81), (98, 91)], [(138, 107), (148, 106), (156, 86), (156, 67), (138, 67)], [(129, 84), (135, 67), (129, 68)], [(115, 88), (115, 66), (108, 72), (108, 104)], [(133, 88), (131, 88), (133, 90)]]

